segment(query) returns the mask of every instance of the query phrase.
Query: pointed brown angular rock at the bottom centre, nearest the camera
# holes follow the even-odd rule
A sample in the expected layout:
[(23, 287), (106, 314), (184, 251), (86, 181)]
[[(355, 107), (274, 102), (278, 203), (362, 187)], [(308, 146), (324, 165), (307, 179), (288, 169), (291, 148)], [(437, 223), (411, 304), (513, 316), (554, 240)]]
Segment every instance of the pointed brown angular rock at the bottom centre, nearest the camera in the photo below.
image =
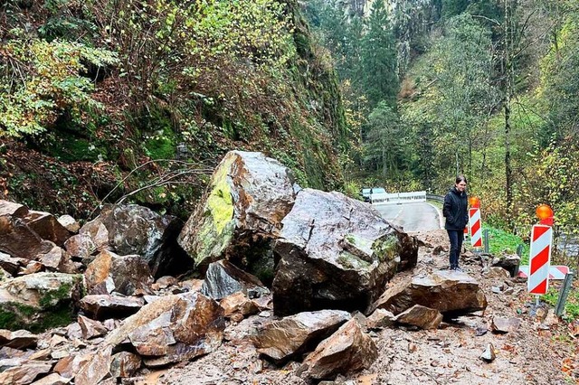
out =
[(310, 379), (334, 379), (338, 374), (367, 369), (378, 357), (378, 348), (352, 319), (319, 343), (303, 362), (302, 371)]

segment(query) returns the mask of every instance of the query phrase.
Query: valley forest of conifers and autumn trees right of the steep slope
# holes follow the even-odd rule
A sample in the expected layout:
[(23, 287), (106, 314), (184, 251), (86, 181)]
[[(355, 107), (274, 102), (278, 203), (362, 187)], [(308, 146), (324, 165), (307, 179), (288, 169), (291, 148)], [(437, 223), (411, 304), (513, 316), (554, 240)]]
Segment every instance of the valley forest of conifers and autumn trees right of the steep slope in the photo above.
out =
[[(485, 221), (579, 223), (579, 2), (308, 2), (356, 127), (347, 176), (443, 194), (465, 174)], [(357, 165), (360, 167), (357, 167)]]

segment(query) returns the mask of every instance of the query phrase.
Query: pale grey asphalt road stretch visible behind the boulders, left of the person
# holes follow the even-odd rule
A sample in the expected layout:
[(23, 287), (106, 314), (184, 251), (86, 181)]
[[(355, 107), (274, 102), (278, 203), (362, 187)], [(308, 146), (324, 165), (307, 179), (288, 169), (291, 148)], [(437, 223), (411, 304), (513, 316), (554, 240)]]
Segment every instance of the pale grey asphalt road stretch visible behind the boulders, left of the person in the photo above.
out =
[(427, 202), (375, 204), (384, 220), (402, 226), (404, 231), (441, 229), (441, 212)]

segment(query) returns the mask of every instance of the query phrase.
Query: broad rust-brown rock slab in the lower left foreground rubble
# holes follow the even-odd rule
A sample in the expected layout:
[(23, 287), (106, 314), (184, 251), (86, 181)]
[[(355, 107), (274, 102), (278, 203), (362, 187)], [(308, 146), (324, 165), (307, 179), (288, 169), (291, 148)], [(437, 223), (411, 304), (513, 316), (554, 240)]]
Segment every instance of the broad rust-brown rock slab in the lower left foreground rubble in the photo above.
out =
[(128, 317), (104, 343), (126, 340), (147, 366), (162, 366), (214, 352), (223, 340), (223, 308), (199, 293), (163, 296)]

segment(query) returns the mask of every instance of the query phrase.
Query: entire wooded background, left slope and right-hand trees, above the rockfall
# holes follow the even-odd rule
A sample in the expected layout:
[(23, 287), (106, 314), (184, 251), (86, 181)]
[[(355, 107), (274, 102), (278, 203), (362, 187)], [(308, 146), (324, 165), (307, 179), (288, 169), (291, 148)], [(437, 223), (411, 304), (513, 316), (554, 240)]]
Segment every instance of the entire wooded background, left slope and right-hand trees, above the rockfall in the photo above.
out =
[(444, 194), (527, 236), (579, 224), (577, 0), (5, 0), (0, 192), (186, 217), (223, 154), (303, 186)]

